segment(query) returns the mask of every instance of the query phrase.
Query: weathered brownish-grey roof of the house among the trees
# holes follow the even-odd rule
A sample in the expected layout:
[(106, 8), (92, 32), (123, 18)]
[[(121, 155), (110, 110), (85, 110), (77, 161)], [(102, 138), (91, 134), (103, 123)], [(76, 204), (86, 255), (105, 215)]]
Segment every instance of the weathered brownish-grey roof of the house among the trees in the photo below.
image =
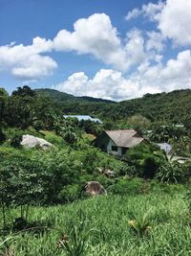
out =
[(105, 130), (105, 132), (118, 147), (122, 148), (133, 148), (144, 140), (134, 129)]

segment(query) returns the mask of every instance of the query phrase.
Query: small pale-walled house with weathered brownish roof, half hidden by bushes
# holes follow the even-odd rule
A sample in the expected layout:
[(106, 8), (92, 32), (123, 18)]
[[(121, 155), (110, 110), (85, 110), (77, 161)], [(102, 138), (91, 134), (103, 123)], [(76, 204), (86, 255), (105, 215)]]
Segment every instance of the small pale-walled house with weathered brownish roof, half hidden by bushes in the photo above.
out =
[(134, 129), (105, 130), (99, 135), (94, 144), (102, 151), (117, 156), (125, 154), (128, 149), (138, 146), (145, 139)]

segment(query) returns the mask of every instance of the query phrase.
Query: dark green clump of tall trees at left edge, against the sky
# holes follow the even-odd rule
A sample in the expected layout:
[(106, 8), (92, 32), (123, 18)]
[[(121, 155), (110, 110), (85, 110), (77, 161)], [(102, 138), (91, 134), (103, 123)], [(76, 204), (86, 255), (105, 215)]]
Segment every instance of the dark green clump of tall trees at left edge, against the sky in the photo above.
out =
[(61, 112), (46, 95), (36, 94), (29, 86), (18, 87), (11, 93), (0, 88), (0, 125), (28, 128), (52, 128), (53, 116)]

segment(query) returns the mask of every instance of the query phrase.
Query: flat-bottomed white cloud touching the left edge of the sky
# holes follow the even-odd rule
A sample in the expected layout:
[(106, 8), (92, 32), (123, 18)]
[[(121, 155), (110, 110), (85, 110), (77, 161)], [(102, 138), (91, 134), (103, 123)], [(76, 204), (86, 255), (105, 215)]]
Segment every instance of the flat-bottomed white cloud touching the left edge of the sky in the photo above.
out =
[(36, 80), (52, 74), (57, 67), (53, 58), (42, 56), (52, 51), (53, 42), (45, 38), (33, 38), (32, 45), (0, 46), (0, 70), (10, 71), (14, 77)]

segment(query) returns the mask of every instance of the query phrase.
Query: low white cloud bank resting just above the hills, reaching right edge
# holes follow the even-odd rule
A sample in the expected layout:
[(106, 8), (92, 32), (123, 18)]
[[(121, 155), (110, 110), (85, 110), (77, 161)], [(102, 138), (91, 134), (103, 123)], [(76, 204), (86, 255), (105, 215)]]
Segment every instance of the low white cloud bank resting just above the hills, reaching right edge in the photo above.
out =
[(159, 63), (150, 66), (149, 62), (145, 62), (129, 77), (124, 77), (121, 72), (113, 69), (101, 69), (93, 79), (79, 72), (66, 81), (53, 85), (53, 88), (76, 96), (121, 101), (141, 97), (146, 93), (191, 88), (190, 73), (191, 51), (183, 51), (165, 65)]

